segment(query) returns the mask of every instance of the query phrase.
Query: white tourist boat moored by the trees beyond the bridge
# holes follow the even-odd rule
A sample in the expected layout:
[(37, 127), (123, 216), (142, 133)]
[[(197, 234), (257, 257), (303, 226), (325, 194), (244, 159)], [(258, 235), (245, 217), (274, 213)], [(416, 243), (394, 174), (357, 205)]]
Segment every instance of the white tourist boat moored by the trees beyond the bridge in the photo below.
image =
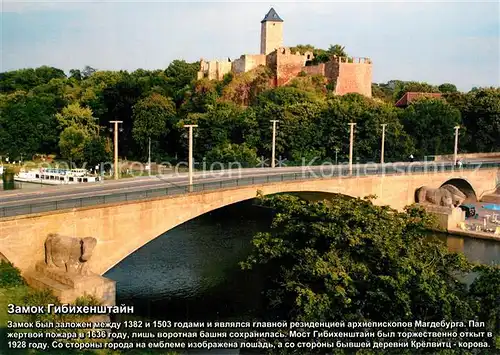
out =
[(21, 171), (14, 175), (19, 182), (32, 182), (45, 185), (67, 185), (98, 182), (101, 177), (90, 175), (86, 169), (52, 169)]

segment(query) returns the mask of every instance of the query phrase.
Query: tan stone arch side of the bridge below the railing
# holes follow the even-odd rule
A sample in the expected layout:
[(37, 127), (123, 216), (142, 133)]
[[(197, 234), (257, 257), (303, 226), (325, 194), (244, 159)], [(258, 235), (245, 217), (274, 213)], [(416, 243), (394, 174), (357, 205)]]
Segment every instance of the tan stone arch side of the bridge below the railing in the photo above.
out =
[(102, 275), (164, 232), (212, 210), (252, 199), (257, 190), (265, 195), (325, 192), (363, 197), (373, 194), (377, 195), (374, 203), (402, 210), (415, 202), (415, 190), (423, 185), (440, 187), (451, 183), (469, 200), (480, 199), (494, 191), (499, 172), (498, 167), (493, 167), (460, 172), (280, 181), (3, 217), (0, 218), (0, 253), (24, 273), (44, 260), (44, 241), (48, 234), (92, 236), (98, 243), (89, 266)]

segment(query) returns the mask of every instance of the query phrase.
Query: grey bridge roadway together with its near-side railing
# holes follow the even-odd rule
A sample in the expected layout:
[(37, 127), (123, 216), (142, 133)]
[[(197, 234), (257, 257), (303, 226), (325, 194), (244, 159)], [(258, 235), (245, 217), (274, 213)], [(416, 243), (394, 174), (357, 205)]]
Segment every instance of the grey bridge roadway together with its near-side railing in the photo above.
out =
[[(400, 162), (384, 164), (385, 174), (423, 172), (427, 165), (439, 171), (450, 171), (453, 164), (448, 162)], [(469, 162), (468, 169), (482, 167), (499, 167), (500, 161)], [(247, 168), (234, 170), (195, 172), (193, 175), (193, 191), (214, 190), (239, 185), (277, 182), (285, 180), (303, 180), (310, 178), (341, 176), (347, 177), (348, 166), (299, 166), (277, 168)], [(353, 176), (377, 175), (382, 172), (381, 164), (353, 165)], [(188, 192), (186, 173), (132, 177), (121, 180), (105, 180), (95, 184), (45, 186), (37, 191), (3, 191), (0, 192), (0, 218), (21, 214), (47, 212), (64, 208), (98, 205), (109, 202), (131, 201), (144, 197), (161, 195), (177, 195)], [(276, 179), (278, 177), (278, 179)], [(161, 191), (159, 193), (159, 191)], [(135, 193), (135, 197), (134, 197)], [(148, 196), (148, 193), (150, 195)], [(145, 195), (144, 195), (145, 194)], [(119, 197), (121, 196), (121, 197)], [(73, 202), (72, 202), (73, 201)], [(33, 208), (35, 206), (35, 208)]]

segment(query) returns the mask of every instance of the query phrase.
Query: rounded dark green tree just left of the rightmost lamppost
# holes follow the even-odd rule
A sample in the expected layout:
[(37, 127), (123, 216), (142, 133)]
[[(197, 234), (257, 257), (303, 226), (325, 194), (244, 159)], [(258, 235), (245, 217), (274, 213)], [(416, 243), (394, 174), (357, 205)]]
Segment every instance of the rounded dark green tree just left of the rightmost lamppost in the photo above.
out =
[(453, 152), (453, 127), (460, 121), (460, 112), (442, 99), (421, 98), (401, 112), (401, 122), (416, 147), (413, 155), (419, 156)]

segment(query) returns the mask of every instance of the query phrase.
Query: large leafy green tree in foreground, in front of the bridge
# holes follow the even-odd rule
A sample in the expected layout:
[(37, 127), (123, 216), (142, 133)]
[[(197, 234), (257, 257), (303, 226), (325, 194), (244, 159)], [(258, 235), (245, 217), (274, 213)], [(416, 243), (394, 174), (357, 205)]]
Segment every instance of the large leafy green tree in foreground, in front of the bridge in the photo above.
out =
[[(429, 237), (435, 220), (422, 208), (398, 212), (375, 206), (370, 198), (342, 195), (321, 202), (291, 195), (260, 196), (260, 201), (275, 217), (270, 232), (254, 236), (241, 266), (265, 270), (266, 320), (494, 320), (488, 314), (476, 317), (477, 300), (458, 278), (473, 266)], [(482, 298), (500, 287), (500, 269), (488, 270), (491, 274), (482, 275), (493, 285), (483, 281), (473, 287), (481, 289), (473, 294), (482, 307), (498, 300), (498, 294)], [(498, 327), (493, 331), (499, 335)]]

